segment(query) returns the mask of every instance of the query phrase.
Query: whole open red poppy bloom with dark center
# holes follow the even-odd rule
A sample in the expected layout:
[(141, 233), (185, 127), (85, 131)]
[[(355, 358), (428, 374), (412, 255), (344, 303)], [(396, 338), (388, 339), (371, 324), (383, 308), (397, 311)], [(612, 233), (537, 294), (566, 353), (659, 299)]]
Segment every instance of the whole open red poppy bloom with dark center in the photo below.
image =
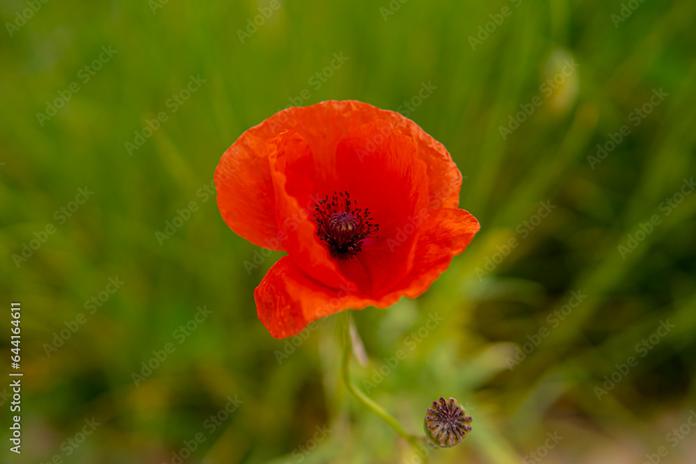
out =
[(215, 170), (218, 207), (255, 245), (285, 250), (254, 291), (276, 338), (347, 308), (416, 298), (480, 226), (445, 147), (369, 104), (290, 108), (248, 129)]

